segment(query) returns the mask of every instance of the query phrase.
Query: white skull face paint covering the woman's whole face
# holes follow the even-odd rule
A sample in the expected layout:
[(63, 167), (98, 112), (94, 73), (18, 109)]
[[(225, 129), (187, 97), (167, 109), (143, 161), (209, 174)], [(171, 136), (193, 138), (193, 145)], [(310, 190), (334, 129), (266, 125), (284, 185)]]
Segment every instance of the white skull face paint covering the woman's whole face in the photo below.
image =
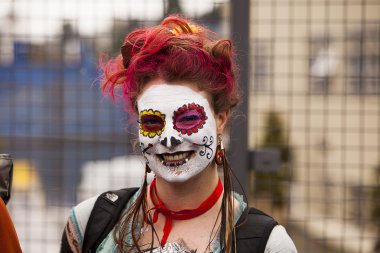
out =
[(183, 85), (152, 85), (137, 106), (141, 150), (157, 176), (184, 182), (213, 161), (216, 123), (201, 94)]

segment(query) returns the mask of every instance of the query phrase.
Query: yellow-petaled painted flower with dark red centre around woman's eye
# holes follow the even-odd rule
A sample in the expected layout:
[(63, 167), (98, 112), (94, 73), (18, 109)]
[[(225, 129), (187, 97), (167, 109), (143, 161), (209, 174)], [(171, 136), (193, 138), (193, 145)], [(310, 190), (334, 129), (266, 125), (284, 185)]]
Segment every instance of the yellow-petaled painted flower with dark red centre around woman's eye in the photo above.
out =
[(145, 137), (153, 138), (160, 136), (165, 129), (165, 114), (153, 109), (146, 109), (139, 115), (140, 134)]

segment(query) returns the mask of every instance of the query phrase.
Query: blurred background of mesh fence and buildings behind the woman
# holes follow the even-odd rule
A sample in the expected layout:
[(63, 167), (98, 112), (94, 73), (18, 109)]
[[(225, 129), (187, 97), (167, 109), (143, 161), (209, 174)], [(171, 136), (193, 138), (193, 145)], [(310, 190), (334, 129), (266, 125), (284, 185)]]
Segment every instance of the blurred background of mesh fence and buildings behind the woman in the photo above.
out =
[(2, 0), (0, 153), (14, 158), (23, 251), (58, 252), (73, 205), (142, 182), (98, 57), (169, 13), (236, 42), (244, 103), (229, 151), (250, 205), (298, 252), (380, 252), (378, 0)]

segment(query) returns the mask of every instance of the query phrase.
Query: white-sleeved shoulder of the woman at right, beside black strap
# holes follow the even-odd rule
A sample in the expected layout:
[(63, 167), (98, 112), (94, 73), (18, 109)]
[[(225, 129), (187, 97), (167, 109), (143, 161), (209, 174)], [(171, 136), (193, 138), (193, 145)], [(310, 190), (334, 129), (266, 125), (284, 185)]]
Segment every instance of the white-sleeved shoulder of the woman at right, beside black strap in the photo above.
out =
[(273, 252), (297, 253), (293, 240), (281, 225), (273, 228), (265, 247), (265, 253)]

